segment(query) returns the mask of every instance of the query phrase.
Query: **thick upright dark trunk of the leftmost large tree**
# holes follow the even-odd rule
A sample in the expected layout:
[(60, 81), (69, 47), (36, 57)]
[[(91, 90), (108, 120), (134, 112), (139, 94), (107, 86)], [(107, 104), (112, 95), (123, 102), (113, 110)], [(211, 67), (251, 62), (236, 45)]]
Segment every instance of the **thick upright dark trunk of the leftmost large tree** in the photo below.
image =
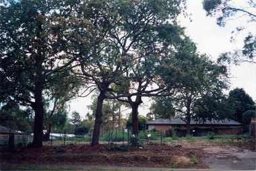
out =
[(33, 147), (42, 147), (42, 129), (44, 123), (44, 105), (42, 103), (42, 86), (40, 83), (35, 86), (34, 109), (34, 140)]

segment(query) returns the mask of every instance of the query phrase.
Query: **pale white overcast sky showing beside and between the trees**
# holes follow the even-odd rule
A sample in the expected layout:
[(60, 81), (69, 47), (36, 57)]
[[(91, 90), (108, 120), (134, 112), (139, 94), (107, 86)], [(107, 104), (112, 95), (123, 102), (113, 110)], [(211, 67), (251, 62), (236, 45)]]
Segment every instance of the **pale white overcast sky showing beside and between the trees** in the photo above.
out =
[[(241, 0), (239, 0), (241, 2)], [(203, 10), (202, 0), (188, 0), (187, 13), (191, 13), (190, 18), (180, 17), (181, 26), (185, 27), (186, 34), (197, 44), (199, 53), (207, 54), (213, 61), (218, 59), (219, 55), (224, 52), (232, 51), (235, 48), (243, 46), (243, 35), (238, 35), (236, 42), (230, 42), (232, 30), (237, 26), (248, 25), (247, 29), (255, 32), (256, 25), (248, 24), (245, 18), (230, 20), (225, 27), (216, 24), (216, 18), (207, 17)], [(241, 37), (241, 38), (240, 38)], [(256, 100), (256, 65), (251, 63), (242, 63), (241, 65), (228, 65), (230, 68), (230, 90), (234, 88), (243, 88), (249, 96)], [(230, 91), (228, 90), (228, 92)], [(226, 93), (228, 93), (226, 92)], [(143, 106), (139, 107), (139, 114), (146, 116), (150, 111), (150, 100), (143, 98)], [(70, 104), (69, 116), (74, 110), (79, 112), (82, 118), (85, 118), (89, 111), (87, 106), (90, 105), (92, 99), (77, 98), (72, 100)], [(127, 110), (127, 112), (131, 112)]]

